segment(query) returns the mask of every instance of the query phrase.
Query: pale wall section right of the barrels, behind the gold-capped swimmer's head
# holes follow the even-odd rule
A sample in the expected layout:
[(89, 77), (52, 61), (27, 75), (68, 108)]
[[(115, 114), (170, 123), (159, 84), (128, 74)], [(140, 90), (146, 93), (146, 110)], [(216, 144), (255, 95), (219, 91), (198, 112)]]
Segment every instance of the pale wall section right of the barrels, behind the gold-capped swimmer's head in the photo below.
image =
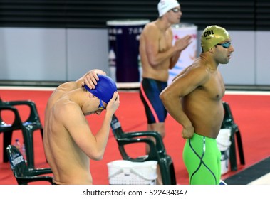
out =
[[(199, 41), (202, 31), (198, 32)], [(229, 34), (234, 53), (227, 65), (219, 65), (225, 84), (270, 85), (270, 31), (229, 31)]]

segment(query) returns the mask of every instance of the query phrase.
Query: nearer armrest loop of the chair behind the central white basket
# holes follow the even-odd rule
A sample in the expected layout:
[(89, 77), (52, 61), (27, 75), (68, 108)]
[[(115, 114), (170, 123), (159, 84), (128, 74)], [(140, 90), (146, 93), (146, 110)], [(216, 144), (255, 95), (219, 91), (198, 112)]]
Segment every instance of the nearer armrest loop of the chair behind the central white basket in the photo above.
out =
[[(142, 162), (142, 161), (148, 161), (148, 160), (153, 160), (153, 159), (157, 159), (158, 158), (158, 154), (157, 154), (157, 149), (155, 146), (155, 143), (150, 140), (150, 139), (145, 139), (145, 138), (139, 138), (139, 139), (117, 139), (118, 141), (118, 146), (120, 149), (120, 154), (123, 157), (124, 160), (130, 160), (130, 161), (138, 161), (138, 162)], [(128, 144), (134, 144), (134, 143), (146, 143), (149, 144), (150, 146), (150, 152), (147, 156), (144, 156), (143, 158), (131, 158), (130, 156), (128, 156), (128, 154), (126, 153), (124, 146), (128, 145)]]

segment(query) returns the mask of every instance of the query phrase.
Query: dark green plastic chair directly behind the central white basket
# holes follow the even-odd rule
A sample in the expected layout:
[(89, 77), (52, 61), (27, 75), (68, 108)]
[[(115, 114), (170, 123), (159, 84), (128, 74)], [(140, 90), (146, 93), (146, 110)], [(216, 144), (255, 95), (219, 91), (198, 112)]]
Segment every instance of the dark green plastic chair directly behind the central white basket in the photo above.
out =
[[(158, 134), (156, 131), (124, 132), (115, 114), (113, 115), (110, 127), (113, 130), (113, 135), (118, 142), (118, 149), (124, 160), (135, 162), (157, 161), (160, 166), (162, 183), (164, 185), (176, 184), (175, 168), (173, 166), (172, 158), (166, 154), (165, 146), (163, 144), (160, 134)], [(154, 137), (156, 144), (151, 139), (148, 139), (147, 136)], [(136, 143), (149, 144), (149, 154), (137, 158), (132, 158), (131, 156), (128, 156), (127, 151), (125, 151), (125, 145)]]

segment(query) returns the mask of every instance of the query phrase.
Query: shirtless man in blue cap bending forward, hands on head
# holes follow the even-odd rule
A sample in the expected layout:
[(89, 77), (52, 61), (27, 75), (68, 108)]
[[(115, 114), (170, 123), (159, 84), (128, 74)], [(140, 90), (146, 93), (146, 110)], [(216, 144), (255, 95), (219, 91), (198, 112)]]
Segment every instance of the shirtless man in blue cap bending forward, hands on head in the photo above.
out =
[[(64, 82), (48, 99), (43, 146), (53, 172), (53, 184), (93, 184), (90, 160), (103, 159), (110, 122), (120, 105), (115, 82), (104, 74), (102, 70), (91, 70), (76, 81)], [(99, 116), (103, 109), (106, 111), (99, 119), (101, 124), (98, 118), (86, 118)], [(93, 126), (100, 127), (93, 131)]]

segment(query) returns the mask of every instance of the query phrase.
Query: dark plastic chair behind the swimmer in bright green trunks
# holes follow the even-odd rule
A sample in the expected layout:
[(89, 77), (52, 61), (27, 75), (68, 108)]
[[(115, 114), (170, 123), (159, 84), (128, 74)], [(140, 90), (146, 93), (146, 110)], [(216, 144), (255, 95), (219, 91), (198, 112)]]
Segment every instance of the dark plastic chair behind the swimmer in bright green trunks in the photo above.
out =
[(240, 163), (242, 165), (245, 164), (241, 134), (238, 125), (234, 122), (234, 117), (232, 117), (232, 112), (229, 107), (229, 104), (227, 102), (222, 103), (224, 107), (224, 119), (222, 122), (222, 129), (231, 129), (230, 141), (232, 144), (229, 148), (229, 161), (231, 171), (237, 171), (237, 151), (236, 151), (235, 137), (237, 138)]

